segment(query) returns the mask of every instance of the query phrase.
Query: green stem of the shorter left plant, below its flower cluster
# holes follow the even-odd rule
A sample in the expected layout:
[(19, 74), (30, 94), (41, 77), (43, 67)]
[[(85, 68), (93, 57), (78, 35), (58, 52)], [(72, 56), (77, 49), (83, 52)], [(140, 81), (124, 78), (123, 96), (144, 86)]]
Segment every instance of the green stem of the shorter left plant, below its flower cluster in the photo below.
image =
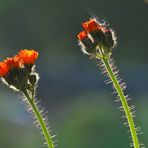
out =
[(27, 92), (24, 92), (25, 96), (27, 97), (27, 100), (28, 100), (28, 103), (29, 105), (31, 106), (40, 126), (41, 126), (41, 129), (42, 129), (42, 132), (45, 136), (45, 139), (46, 139), (46, 142), (47, 142), (47, 145), (48, 145), (48, 148), (54, 148), (54, 144), (52, 142), (52, 139), (51, 139), (51, 135), (49, 134), (48, 132), (48, 129), (46, 127), (46, 124), (42, 118), (42, 115), (41, 113), (39, 112), (39, 109), (37, 107), (37, 105), (34, 103), (34, 98), (31, 98)]

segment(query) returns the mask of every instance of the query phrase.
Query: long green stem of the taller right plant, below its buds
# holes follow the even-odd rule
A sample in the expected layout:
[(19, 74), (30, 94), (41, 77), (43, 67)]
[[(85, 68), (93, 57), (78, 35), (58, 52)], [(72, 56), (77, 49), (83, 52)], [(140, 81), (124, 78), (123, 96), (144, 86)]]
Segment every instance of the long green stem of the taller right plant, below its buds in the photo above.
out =
[(112, 80), (113, 85), (114, 85), (114, 87), (115, 87), (115, 89), (116, 89), (116, 91), (117, 91), (117, 93), (120, 97), (120, 100), (121, 100), (121, 103), (122, 103), (122, 106), (124, 108), (124, 112), (125, 112), (128, 124), (129, 124), (130, 132), (131, 132), (131, 136), (132, 136), (132, 140), (133, 140), (133, 146), (134, 146), (134, 148), (139, 148), (140, 145), (139, 145), (139, 141), (138, 141), (138, 137), (137, 137), (137, 133), (136, 133), (136, 129), (135, 129), (134, 120), (133, 120), (130, 108), (128, 106), (126, 97), (124, 95), (124, 92), (123, 92), (123, 90), (122, 90), (122, 88), (121, 88), (121, 86), (120, 86), (120, 84), (117, 80), (117, 77), (115, 76), (115, 74), (114, 74), (114, 72), (111, 68), (111, 65), (108, 61), (108, 58), (103, 56), (103, 58), (101, 60), (104, 63), (105, 68), (108, 72), (108, 75), (109, 75), (110, 79)]

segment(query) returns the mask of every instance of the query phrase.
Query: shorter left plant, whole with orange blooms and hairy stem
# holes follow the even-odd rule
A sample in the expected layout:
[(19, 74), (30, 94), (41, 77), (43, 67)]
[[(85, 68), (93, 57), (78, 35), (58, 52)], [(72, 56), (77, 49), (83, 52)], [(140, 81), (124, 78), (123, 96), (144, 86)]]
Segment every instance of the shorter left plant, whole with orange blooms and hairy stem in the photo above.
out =
[(37, 57), (38, 52), (35, 50), (20, 50), (17, 55), (0, 62), (0, 78), (7, 86), (24, 96), (27, 111), (31, 112), (36, 127), (44, 135), (45, 144), (48, 148), (54, 148), (44, 108), (39, 109), (39, 100), (35, 98), (39, 80), (34, 65)]

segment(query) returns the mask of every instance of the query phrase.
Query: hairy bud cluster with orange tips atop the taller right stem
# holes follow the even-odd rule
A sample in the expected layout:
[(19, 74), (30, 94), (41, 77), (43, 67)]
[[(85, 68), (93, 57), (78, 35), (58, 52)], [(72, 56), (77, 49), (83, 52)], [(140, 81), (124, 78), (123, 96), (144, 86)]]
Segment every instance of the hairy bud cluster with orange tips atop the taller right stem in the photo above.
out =
[(78, 40), (84, 53), (95, 54), (97, 46), (104, 47), (105, 52), (108, 52), (115, 46), (116, 38), (113, 30), (96, 19), (82, 23), (82, 27), (84, 31), (78, 34)]

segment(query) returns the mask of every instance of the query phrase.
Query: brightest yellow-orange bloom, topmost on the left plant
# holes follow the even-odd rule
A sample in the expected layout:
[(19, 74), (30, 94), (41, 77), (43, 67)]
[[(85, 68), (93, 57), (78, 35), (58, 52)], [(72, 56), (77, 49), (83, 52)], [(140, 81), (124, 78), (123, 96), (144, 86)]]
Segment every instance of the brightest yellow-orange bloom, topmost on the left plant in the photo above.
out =
[(18, 56), (22, 59), (23, 64), (34, 64), (35, 60), (38, 57), (38, 52), (34, 50), (20, 50)]

